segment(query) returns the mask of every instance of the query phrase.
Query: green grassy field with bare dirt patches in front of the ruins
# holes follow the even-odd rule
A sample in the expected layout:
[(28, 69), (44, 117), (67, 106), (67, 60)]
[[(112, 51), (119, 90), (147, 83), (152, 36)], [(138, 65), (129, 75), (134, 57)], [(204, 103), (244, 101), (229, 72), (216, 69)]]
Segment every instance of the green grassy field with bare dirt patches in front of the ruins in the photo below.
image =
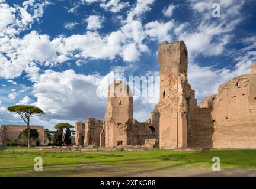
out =
[[(43, 171), (34, 171), (34, 158)], [(222, 171), (212, 171), (219, 157)], [(0, 151), (0, 177), (204, 177), (256, 176), (256, 150), (207, 152), (65, 151), (8, 148)]]

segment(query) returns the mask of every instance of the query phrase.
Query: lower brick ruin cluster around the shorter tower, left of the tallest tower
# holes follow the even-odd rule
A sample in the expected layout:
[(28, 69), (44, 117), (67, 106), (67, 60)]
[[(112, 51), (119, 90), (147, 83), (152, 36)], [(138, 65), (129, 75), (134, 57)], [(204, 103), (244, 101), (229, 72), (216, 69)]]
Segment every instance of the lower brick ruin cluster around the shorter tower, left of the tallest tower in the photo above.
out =
[[(129, 93), (131, 94), (129, 86), (124, 81), (110, 84), (105, 119), (87, 118), (85, 124), (76, 122), (76, 136), (79, 138), (76, 144), (107, 148), (119, 145), (158, 147), (159, 112), (152, 112), (151, 119), (146, 122), (137, 122), (133, 119), (133, 97)], [(79, 136), (79, 133), (82, 135)]]

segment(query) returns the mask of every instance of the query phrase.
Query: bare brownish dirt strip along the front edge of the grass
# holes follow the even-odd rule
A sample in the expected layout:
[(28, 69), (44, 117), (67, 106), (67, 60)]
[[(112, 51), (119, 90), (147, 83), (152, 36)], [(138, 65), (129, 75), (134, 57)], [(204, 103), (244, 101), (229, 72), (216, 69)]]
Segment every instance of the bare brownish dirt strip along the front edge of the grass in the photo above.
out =
[(150, 168), (145, 166), (123, 167), (120, 165), (69, 165), (45, 167), (43, 172), (27, 172), (24, 177), (256, 177), (256, 171), (233, 168), (211, 171), (209, 167), (189, 168), (183, 164)]

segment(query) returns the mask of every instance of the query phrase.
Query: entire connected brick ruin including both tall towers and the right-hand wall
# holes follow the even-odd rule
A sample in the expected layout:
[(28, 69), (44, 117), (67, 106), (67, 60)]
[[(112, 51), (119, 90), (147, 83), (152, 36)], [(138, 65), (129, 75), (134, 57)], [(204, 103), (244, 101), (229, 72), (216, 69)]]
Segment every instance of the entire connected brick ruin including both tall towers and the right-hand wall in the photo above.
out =
[(184, 41), (159, 45), (159, 103), (151, 119), (133, 119), (129, 86), (108, 87), (104, 120), (76, 123), (76, 144), (84, 146), (145, 145), (147, 148), (256, 148), (256, 64), (251, 74), (219, 86), (218, 94), (199, 105), (187, 79)]

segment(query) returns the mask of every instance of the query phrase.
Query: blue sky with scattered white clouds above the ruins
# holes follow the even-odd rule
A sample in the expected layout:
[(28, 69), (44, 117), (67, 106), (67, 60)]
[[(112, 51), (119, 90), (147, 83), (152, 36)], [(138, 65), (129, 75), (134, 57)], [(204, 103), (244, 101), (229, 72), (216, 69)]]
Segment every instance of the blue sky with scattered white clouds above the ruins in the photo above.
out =
[[(213, 3), (220, 17), (213, 17)], [(162, 41), (184, 40), (196, 98), (256, 63), (255, 1), (0, 0), (0, 123), (21, 124), (7, 111), (39, 106), (33, 124), (104, 118), (108, 78), (158, 76)], [(156, 83), (158, 84), (158, 83)], [(149, 118), (158, 92), (134, 99), (133, 116)]]

